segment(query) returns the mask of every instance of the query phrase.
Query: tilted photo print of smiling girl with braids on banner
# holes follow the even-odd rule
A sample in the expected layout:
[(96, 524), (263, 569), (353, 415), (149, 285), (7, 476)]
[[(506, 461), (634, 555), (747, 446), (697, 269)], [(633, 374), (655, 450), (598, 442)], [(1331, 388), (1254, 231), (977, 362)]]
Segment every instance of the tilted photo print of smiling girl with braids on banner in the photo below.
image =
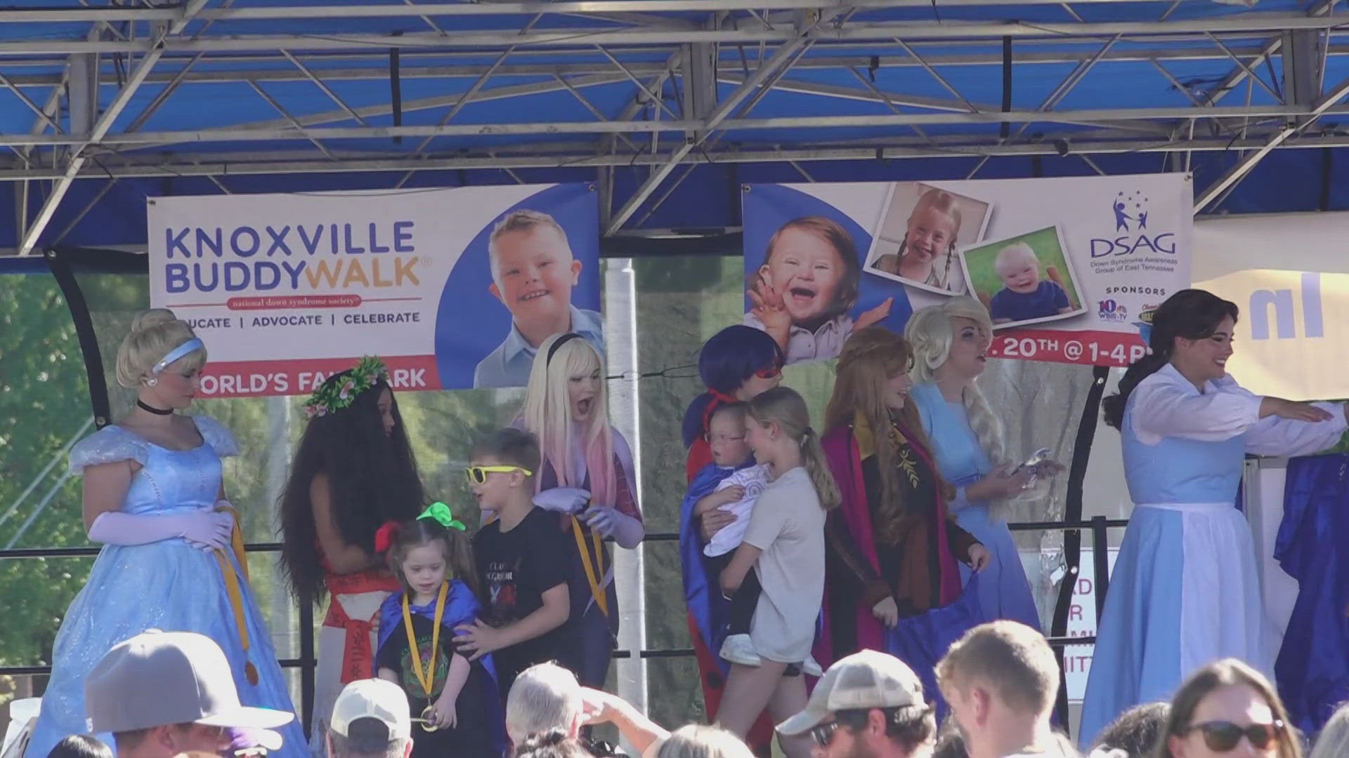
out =
[(992, 206), (919, 182), (896, 182), (877, 227), (866, 270), (928, 291), (966, 293), (955, 254), (983, 239)]

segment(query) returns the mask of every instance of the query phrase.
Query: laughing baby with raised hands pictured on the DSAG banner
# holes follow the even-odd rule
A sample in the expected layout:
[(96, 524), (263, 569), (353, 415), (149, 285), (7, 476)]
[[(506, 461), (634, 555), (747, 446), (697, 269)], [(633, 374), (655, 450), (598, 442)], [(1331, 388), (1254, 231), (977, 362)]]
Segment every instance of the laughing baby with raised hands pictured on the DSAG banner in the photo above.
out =
[(793, 218), (773, 233), (758, 275), (749, 289), (745, 325), (777, 341), (786, 363), (838, 357), (853, 329), (890, 314), (894, 298), (857, 320), (862, 262), (853, 237), (823, 216)]

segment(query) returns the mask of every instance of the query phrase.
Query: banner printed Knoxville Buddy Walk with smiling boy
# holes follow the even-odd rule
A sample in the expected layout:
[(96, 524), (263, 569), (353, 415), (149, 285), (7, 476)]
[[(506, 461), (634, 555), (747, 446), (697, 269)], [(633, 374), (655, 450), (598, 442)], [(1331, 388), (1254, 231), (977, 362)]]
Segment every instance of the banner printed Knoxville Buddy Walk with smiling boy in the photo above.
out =
[(591, 185), (161, 197), (148, 235), (208, 397), (308, 394), (362, 355), (399, 390), (521, 387), (567, 330), (603, 355)]

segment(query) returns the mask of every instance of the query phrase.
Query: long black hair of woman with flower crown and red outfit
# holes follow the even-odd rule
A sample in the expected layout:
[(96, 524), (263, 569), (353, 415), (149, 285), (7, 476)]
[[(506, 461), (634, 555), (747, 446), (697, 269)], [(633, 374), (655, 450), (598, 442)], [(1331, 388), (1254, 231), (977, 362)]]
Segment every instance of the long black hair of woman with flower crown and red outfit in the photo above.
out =
[[(333, 374), (324, 384), (340, 386), (349, 376), (349, 371)], [(379, 414), (384, 390), (393, 395), (389, 383), (378, 379), (351, 406), (317, 415), (305, 426), (281, 496), (281, 564), (298, 597), (309, 596), (317, 603), (324, 592), (318, 533), (309, 500), (316, 475), (328, 476), (332, 515), (343, 540), (370, 554), (375, 553), (375, 531), (380, 525), (415, 518), (426, 504), (397, 397), (394, 430), (384, 433)]]

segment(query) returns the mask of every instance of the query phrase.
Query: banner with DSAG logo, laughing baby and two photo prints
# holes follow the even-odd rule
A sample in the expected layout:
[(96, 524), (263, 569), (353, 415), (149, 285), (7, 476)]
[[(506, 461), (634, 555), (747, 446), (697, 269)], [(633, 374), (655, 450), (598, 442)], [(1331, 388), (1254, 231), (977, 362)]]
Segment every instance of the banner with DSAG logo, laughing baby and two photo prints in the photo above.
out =
[(855, 328), (901, 332), (969, 294), (992, 356), (1128, 366), (1190, 285), (1191, 206), (1187, 174), (745, 185), (745, 324), (788, 363), (828, 359)]

